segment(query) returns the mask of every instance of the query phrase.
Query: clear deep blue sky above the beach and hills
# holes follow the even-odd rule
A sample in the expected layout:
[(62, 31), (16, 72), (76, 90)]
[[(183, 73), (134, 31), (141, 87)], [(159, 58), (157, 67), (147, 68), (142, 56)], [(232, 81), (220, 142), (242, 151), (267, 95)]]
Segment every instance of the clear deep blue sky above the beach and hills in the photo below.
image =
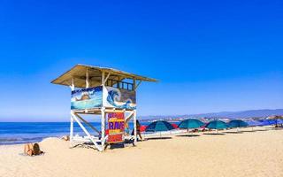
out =
[(1, 1), (0, 120), (68, 121), (77, 63), (157, 78), (138, 115), (283, 108), (283, 3)]

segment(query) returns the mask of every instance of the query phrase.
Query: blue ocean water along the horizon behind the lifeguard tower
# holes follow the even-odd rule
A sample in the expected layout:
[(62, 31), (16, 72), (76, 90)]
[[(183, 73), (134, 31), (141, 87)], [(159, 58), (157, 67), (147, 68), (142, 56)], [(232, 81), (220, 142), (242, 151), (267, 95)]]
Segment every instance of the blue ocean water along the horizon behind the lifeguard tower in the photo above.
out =
[[(91, 122), (99, 131), (99, 122)], [(147, 125), (147, 123), (142, 123)], [(93, 135), (95, 131), (85, 127)], [(133, 127), (133, 122), (129, 122)], [(73, 124), (74, 135), (85, 135), (77, 123)], [(62, 137), (70, 134), (70, 122), (0, 122), (0, 145), (19, 144), (27, 142), (41, 142), (47, 137)]]

